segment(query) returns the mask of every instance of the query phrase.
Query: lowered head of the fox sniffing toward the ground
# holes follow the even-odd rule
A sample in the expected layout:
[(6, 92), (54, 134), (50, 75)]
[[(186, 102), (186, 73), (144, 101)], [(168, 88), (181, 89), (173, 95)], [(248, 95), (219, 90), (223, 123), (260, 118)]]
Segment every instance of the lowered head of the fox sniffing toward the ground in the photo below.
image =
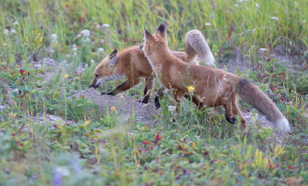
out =
[(104, 82), (119, 78), (113, 75), (112, 70), (118, 59), (118, 49), (114, 49), (94, 70), (94, 77), (89, 85), (90, 88), (98, 88)]

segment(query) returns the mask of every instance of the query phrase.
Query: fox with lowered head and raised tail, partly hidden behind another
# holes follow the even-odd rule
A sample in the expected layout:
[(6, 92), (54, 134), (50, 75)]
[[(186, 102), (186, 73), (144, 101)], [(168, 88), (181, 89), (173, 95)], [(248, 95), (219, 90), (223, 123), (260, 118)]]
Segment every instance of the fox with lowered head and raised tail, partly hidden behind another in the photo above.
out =
[[(191, 30), (185, 35), (185, 52), (171, 51), (175, 56), (185, 61), (186, 64), (198, 65), (199, 58), (207, 65), (215, 66), (215, 58), (207, 45), (202, 33), (199, 30)], [(120, 92), (126, 91), (133, 86), (139, 84), (139, 78), (145, 78), (144, 95), (142, 102), (147, 104), (150, 98), (150, 91), (153, 84), (152, 68), (149, 65), (144, 53), (139, 46), (133, 46), (123, 49), (118, 53), (114, 49), (108, 56), (106, 56), (94, 70), (94, 77), (89, 85), (91, 88), (98, 88), (104, 82), (118, 79), (121, 76), (126, 76), (127, 79), (114, 90), (103, 94), (116, 95)], [(156, 98), (156, 107), (159, 106)]]

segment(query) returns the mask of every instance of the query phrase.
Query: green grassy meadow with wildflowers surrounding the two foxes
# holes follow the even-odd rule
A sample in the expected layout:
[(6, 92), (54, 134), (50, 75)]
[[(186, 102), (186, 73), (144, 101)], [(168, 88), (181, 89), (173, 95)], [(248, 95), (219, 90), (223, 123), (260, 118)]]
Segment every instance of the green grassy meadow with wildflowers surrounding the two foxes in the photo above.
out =
[[(2, 0), (0, 8), (0, 185), (307, 184), (307, 1)], [(202, 31), (218, 68), (258, 85), (293, 134), (262, 126), (242, 101), (254, 121), (244, 140), (224, 111), (189, 101), (173, 115), (164, 96), (162, 122), (145, 126), (74, 96), (109, 52), (143, 43), (142, 28), (153, 33), (162, 22), (172, 50), (184, 50), (187, 31)], [(143, 85), (124, 94), (141, 98)]]

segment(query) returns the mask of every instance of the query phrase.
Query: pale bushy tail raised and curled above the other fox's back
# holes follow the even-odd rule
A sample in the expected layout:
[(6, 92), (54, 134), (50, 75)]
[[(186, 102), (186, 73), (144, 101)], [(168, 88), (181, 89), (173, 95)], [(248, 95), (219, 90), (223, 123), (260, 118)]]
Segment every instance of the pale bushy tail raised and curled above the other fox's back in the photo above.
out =
[(185, 52), (189, 59), (194, 59), (198, 54), (205, 64), (215, 66), (215, 58), (199, 30), (190, 30), (186, 33)]

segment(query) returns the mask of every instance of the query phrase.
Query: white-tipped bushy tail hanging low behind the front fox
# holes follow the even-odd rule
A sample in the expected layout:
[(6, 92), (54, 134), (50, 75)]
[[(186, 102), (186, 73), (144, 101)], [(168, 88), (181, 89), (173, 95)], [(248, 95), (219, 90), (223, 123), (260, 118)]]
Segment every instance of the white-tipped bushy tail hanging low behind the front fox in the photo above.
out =
[(256, 109), (262, 112), (262, 114), (267, 116), (268, 119), (275, 122), (277, 128), (287, 133), (291, 132), (287, 119), (275, 106), (273, 101), (265, 93), (263, 93), (259, 87), (247, 79), (240, 78), (239, 91), (242, 99), (253, 105)]

